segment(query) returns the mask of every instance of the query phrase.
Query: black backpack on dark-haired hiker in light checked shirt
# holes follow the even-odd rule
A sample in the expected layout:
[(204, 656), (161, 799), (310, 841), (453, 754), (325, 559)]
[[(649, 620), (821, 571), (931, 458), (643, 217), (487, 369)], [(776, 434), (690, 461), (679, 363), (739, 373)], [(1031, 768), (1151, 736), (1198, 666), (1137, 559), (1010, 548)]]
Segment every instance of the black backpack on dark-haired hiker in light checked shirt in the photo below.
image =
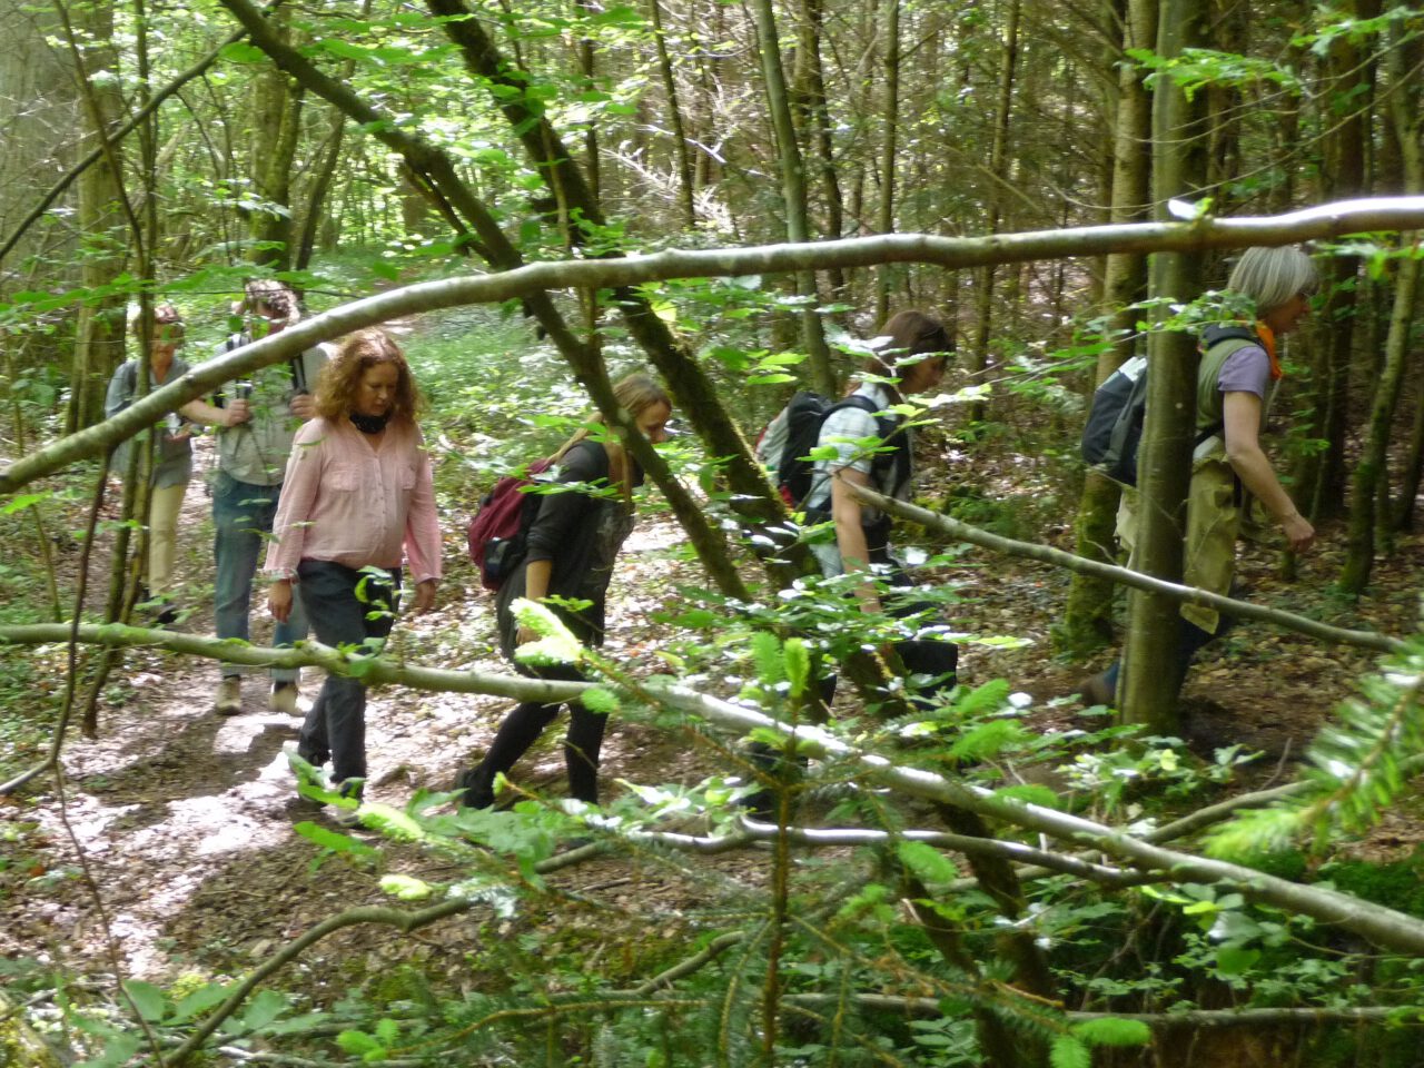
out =
[[(756, 459), (772, 471), (772, 483), (782, 494), (787, 507), (800, 508), (810, 496), (815, 476), (815, 460), (810, 451), (820, 440), (820, 427), (832, 412), (844, 407), (859, 407), (867, 414), (876, 416), (876, 434), (889, 449), (876, 453), (870, 463), (871, 477), (876, 484), (881, 484), (884, 473), (894, 467), (894, 484), (899, 486), (910, 476), (910, 450), (906, 449), (901, 420), (897, 416), (881, 416), (880, 404), (864, 396), (853, 393), (839, 402), (832, 402), (809, 389), (803, 389), (790, 399), (760, 437), (756, 440)], [(896, 437), (899, 436), (899, 439)]]

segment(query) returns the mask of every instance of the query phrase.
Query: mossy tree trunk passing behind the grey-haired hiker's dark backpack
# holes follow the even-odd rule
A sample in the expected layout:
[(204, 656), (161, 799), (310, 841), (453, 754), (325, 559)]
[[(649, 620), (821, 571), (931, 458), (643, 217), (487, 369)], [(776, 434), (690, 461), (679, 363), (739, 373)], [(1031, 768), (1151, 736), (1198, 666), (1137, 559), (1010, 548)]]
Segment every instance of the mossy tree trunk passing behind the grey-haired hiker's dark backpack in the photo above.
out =
[[(1156, 0), (1129, 0), (1122, 13), (1122, 48), (1145, 48), (1156, 40)], [(1141, 222), (1146, 216), (1151, 157), (1142, 145), (1152, 137), (1152, 98), (1142, 81), (1143, 73), (1132, 63), (1118, 66), (1118, 114), (1112, 150), (1112, 209), (1109, 222)], [(1094, 384), (1102, 384), (1112, 372), (1134, 355), (1138, 312), (1132, 308), (1146, 289), (1146, 256), (1115, 252), (1104, 268), (1104, 296), (1114, 309), (1112, 349), (1098, 357)], [(1075, 553), (1089, 560), (1114, 558), (1118, 484), (1088, 473), (1078, 518), (1074, 524)], [(1054, 645), (1069, 655), (1082, 656), (1112, 641), (1114, 585), (1105, 580), (1074, 572), (1068, 584), (1064, 619), (1054, 629)]]

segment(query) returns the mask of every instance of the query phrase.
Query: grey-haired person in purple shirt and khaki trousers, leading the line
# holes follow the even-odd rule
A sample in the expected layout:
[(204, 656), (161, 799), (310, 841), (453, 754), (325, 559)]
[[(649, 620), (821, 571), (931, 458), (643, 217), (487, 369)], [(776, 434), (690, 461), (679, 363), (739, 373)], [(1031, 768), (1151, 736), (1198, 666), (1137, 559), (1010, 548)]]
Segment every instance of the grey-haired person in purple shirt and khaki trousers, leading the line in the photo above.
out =
[[(1196, 376), (1198, 440), (1186, 506), (1186, 585), (1230, 594), (1236, 575), (1236, 538), (1255, 498), (1276, 520), (1286, 544), (1304, 553), (1314, 527), (1280, 484), (1260, 444), (1270, 402), (1284, 370), (1277, 342), (1310, 310), (1319, 288), (1316, 265), (1293, 246), (1250, 248), (1232, 269), (1226, 288), (1255, 310), (1255, 323), (1222, 323), (1203, 333)], [(1138, 494), (1125, 490), (1118, 510), (1118, 537), (1131, 553), (1138, 530)], [(1227, 631), (1232, 621), (1202, 605), (1182, 605), (1176, 664), (1180, 688), (1196, 654)], [(1116, 703), (1122, 662), (1087, 679), (1079, 692), (1088, 705)]]

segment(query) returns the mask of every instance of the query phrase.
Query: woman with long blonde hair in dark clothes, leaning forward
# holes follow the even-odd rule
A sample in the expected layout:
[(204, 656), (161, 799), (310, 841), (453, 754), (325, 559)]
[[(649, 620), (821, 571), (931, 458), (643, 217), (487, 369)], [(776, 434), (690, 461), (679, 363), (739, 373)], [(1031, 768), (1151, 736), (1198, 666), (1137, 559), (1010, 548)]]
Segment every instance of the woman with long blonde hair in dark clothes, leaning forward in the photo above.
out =
[[(646, 375), (629, 375), (614, 384), (614, 396), (644, 437), (654, 444), (666, 440), (672, 402), (656, 382)], [(604, 419), (600, 422), (607, 423)], [(521, 597), (587, 602), (578, 609), (550, 607), (581, 642), (604, 644), (608, 581), (624, 540), (632, 531), (632, 490), (642, 484), (642, 468), (627, 450), (611, 436), (594, 436), (591, 429), (574, 434), (554, 459), (557, 468), (551, 471), (557, 470), (557, 481), (594, 490), (602, 487), (605, 493), (541, 496), (538, 514), (528, 531), (525, 557), (504, 580), (496, 600), (500, 648), (511, 661), (520, 645), (537, 637), (521, 627), (510, 611), (510, 605)], [(543, 679), (582, 679), (580, 671), (568, 665), (531, 668), (515, 661), (515, 669)], [(457, 789), (464, 790), (466, 805), (483, 809), (494, 803), (496, 775), (508, 772), (528, 752), (558, 709), (560, 705), (527, 701), (506, 716), (484, 759), (456, 780)], [(578, 702), (571, 702), (568, 709), (568, 735), (564, 739), (568, 790), (572, 797), (597, 805), (598, 753), (608, 716), (591, 712)]]

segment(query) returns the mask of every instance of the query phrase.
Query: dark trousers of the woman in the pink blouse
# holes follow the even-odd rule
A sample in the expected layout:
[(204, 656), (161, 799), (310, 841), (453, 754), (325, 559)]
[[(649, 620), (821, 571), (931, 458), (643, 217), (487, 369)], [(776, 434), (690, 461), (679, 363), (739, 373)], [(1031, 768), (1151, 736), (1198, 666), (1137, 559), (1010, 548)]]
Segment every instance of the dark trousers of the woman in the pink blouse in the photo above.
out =
[[(303, 560), (296, 575), (298, 597), (322, 645), (360, 645), (390, 634), (400, 604), (400, 568), (380, 581), (343, 564)], [(296, 755), (316, 766), (330, 759), (336, 783), (366, 778), (366, 684), (326, 676), (302, 723)]]

